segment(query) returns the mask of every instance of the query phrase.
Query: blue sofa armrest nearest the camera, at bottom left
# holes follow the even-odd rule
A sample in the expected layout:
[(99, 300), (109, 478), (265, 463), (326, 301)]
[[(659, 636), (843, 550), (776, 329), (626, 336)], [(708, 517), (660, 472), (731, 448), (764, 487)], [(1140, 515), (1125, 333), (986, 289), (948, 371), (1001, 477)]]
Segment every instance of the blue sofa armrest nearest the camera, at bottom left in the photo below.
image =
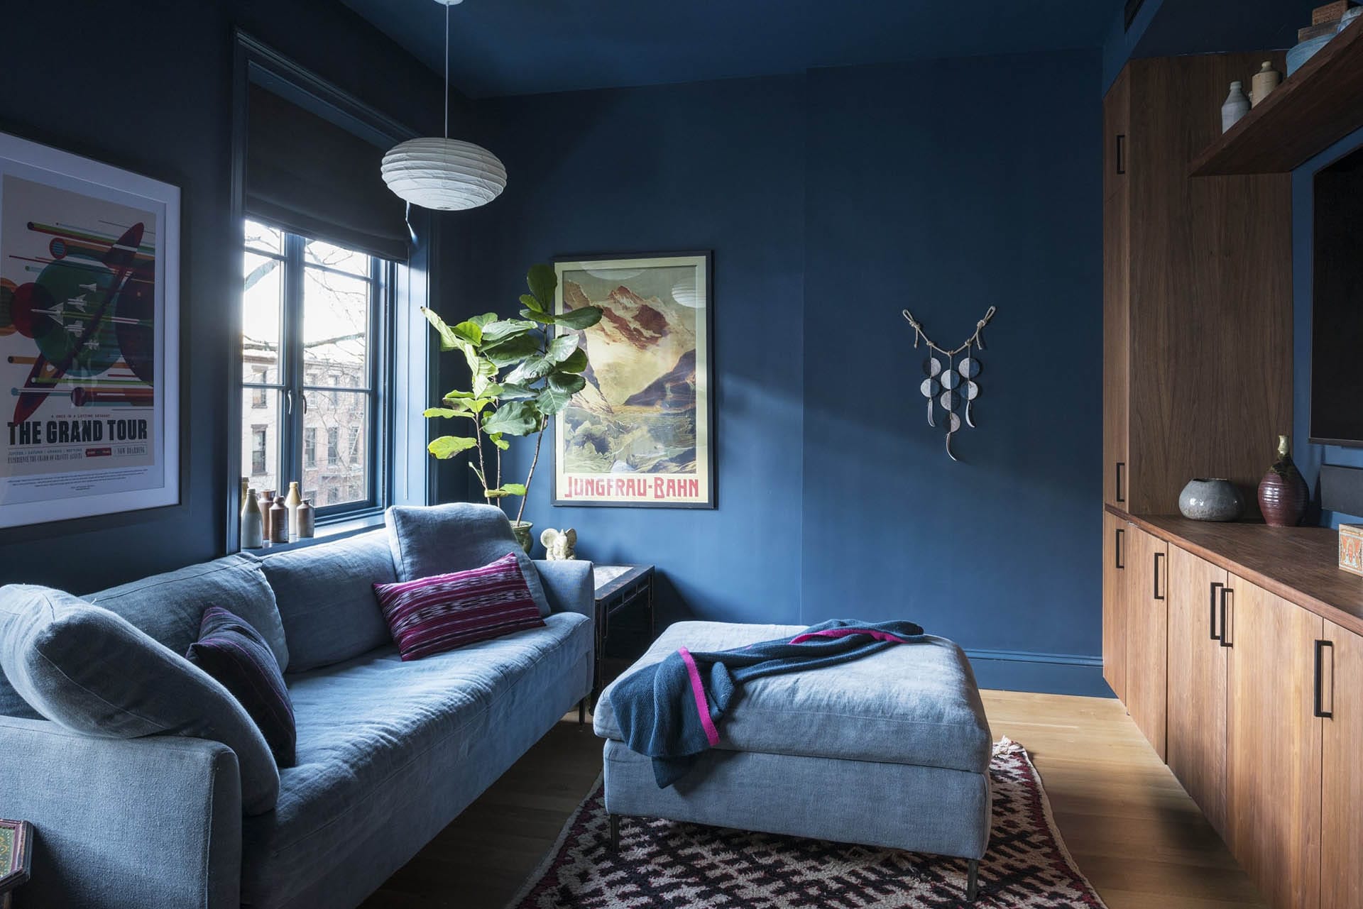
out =
[(204, 739), (0, 717), (0, 818), (34, 826), (23, 906), (237, 909), (241, 780)]

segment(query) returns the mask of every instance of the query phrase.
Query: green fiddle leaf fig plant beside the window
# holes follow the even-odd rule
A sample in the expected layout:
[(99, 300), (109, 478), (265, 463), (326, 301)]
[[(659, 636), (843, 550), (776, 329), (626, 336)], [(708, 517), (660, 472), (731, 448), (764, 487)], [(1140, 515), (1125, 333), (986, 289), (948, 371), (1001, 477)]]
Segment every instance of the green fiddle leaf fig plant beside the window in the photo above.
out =
[[(477, 462), (470, 459), (469, 467), (483, 485), (488, 504), (521, 496), (517, 525), (525, 514), (525, 497), (534, 480), (549, 420), (586, 387), (582, 373), (587, 369), (587, 353), (578, 333), (601, 320), (600, 307), (553, 313), (553, 294), (559, 286), (553, 266), (532, 266), (526, 285), (530, 293), (521, 294), (521, 319), (500, 319), (495, 312), (485, 312), (451, 326), (435, 311), (421, 309), (440, 337), (440, 349), (462, 353), (470, 376), (468, 391), (446, 392), (440, 406), (424, 410), (423, 416), (473, 424), (472, 436), (440, 436), (427, 448), (440, 459), (476, 451)], [(559, 334), (564, 328), (568, 333)], [(525, 482), (502, 481), (502, 452), (511, 447), (510, 436), (534, 436), (534, 455)], [(491, 472), (487, 444), (493, 448)]]

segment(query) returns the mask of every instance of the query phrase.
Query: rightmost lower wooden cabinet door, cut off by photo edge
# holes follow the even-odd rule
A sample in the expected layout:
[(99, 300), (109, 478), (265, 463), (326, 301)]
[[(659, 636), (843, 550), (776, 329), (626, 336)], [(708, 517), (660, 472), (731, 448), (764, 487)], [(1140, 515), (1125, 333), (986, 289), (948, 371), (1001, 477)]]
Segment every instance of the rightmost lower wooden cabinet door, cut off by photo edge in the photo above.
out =
[(1363, 638), (1326, 621), (1322, 649), (1321, 909), (1363, 906)]

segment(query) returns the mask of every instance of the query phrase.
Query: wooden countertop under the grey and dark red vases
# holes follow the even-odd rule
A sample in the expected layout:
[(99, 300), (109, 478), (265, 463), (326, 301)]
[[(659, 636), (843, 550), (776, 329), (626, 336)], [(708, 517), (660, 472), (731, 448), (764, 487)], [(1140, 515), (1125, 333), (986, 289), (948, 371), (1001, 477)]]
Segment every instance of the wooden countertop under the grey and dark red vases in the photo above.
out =
[(1112, 506), (1105, 508), (1180, 549), (1363, 635), (1363, 578), (1340, 570), (1338, 536), (1329, 527), (1219, 523), (1175, 515), (1133, 515)]

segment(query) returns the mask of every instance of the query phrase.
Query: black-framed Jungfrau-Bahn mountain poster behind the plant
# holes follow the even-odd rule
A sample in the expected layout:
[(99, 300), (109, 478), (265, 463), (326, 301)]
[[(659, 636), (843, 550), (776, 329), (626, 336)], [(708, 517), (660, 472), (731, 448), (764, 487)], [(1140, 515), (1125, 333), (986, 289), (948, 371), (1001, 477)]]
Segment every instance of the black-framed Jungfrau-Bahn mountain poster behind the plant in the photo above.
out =
[(582, 333), (586, 388), (555, 417), (553, 504), (713, 508), (711, 255), (556, 259), (555, 312)]

